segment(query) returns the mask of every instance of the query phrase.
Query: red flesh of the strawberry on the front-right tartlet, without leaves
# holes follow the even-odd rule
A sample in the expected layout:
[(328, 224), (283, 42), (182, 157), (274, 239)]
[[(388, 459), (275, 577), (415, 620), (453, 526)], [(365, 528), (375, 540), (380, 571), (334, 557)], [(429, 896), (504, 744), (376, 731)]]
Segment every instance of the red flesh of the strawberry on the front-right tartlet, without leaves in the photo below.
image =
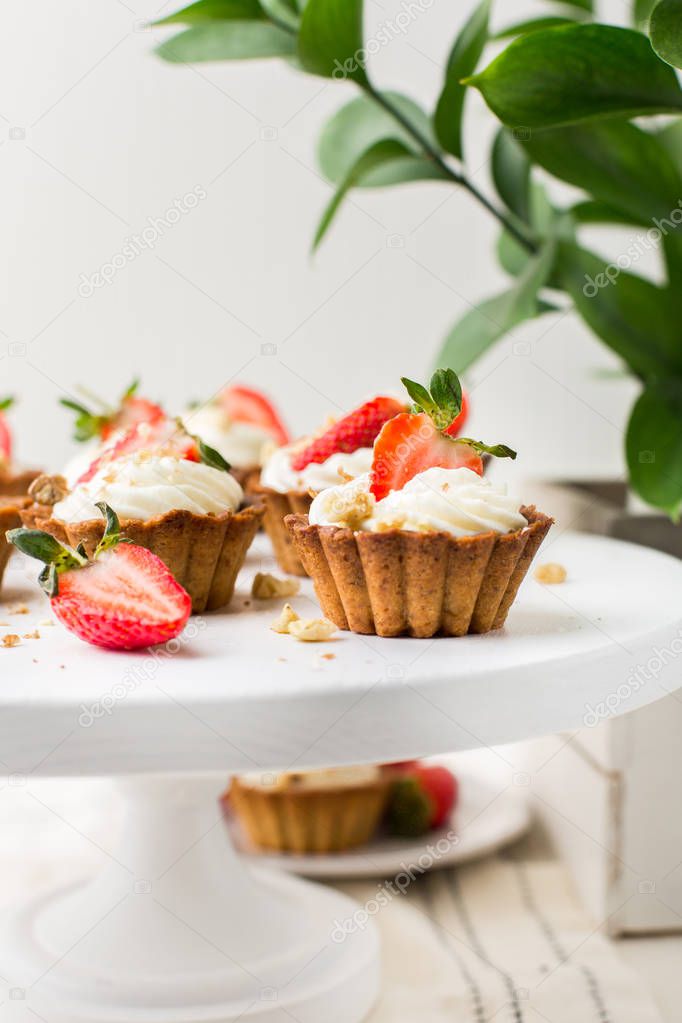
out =
[(374, 442), (370, 490), (380, 501), (437, 465), (465, 466), (483, 476), (483, 461), (471, 447), (445, 437), (425, 412), (403, 412), (385, 424)]

